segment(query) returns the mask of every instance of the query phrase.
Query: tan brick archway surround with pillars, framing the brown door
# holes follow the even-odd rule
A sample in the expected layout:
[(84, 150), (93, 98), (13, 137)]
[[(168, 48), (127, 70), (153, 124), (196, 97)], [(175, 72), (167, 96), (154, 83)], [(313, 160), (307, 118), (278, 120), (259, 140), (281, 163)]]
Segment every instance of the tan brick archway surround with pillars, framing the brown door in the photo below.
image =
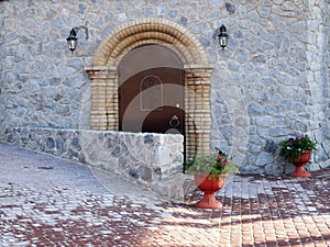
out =
[(175, 52), (185, 70), (186, 157), (209, 153), (210, 76), (213, 66), (187, 29), (164, 19), (143, 19), (114, 30), (98, 47), (92, 66), (86, 67), (91, 79), (90, 127), (118, 131), (118, 65), (130, 50), (142, 45), (163, 45)]

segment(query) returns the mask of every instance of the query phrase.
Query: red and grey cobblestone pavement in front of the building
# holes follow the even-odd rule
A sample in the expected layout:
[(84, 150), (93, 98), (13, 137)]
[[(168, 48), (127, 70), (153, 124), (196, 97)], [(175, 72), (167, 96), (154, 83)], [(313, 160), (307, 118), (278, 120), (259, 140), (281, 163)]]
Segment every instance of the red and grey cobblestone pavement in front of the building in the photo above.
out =
[(330, 169), (231, 176), (211, 211), (4, 143), (0, 168), (0, 246), (330, 246)]

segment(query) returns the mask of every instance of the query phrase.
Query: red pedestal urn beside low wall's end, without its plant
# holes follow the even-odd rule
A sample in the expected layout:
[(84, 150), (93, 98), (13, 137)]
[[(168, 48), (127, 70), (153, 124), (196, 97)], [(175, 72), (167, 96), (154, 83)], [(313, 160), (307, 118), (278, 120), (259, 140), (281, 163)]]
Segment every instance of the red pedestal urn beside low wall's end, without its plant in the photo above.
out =
[(215, 193), (220, 190), (228, 175), (219, 175), (211, 178), (210, 175), (195, 175), (195, 183), (199, 190), (204, 192), (202, 199), (197, 202), (196, 206), (199, 209), (222, 209), (222, 203), (215, 198)]

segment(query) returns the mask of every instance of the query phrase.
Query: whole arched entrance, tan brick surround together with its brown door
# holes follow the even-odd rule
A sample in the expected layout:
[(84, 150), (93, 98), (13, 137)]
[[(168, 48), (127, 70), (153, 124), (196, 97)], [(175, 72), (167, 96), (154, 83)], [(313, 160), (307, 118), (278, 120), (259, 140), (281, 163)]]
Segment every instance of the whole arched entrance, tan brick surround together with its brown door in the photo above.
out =
[(85, 69), (92, 130), (179, 132), (186, 159), (209, 153), (213, 66), (187, 29), (164, 19), (128, 22), (100, 44)]

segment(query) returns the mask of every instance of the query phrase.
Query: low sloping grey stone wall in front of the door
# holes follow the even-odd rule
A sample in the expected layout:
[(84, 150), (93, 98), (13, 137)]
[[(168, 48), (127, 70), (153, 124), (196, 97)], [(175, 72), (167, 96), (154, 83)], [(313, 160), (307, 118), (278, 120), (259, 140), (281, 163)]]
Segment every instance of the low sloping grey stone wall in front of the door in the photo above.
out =
[(6, 142), (114, 172), (182, 200), (184, 137), (170, 134), (13, 128)]

